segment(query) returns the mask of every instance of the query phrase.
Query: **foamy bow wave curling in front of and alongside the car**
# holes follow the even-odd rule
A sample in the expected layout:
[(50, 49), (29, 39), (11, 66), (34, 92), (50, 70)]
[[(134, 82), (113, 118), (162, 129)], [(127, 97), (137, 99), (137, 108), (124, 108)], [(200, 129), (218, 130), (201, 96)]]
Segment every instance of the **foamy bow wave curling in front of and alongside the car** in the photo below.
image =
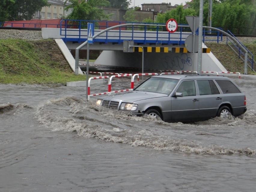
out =
[[(53, 131), (76, 132), (78, 136), (108, 142), (146, 146), (156, 150), (181, 151), (196, 154), (246, 154), (255, 155), (250, 148), (234, 148), (181, 139), (172, 134), (175, 129), (190, 130), (193, 126), (208, 126), (213, 120), (195, 124), (166, 123), (149, 117), (130, 116), (127, 113), (96, 106), (93, 101), (76, 97), (50, 99), (42, 103), (35, 115), (40, 123)], [(247, 117), (245, 117), (247, 118)], [(214, 123), (221, 121), (217, 118)], [(223, 124), (242, 121), (236, 118)], [(208, 123), (208, 125), (207, 125)], [(168, 130), (166, 129), (168, 127)], [(197, 127), (198, 128), (198, 127)]]

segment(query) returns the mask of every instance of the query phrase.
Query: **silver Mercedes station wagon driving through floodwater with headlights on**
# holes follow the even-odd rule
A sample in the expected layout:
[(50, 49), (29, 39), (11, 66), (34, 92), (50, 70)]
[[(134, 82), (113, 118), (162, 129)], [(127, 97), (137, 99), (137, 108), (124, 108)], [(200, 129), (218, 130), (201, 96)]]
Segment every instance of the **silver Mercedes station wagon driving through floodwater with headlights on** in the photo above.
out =
[(245, 94), (230, 78), (198, 74), (152, 76), (133, 91), (98, 99), (97, 104), (166, 122), (237, 117), (246, 111)]

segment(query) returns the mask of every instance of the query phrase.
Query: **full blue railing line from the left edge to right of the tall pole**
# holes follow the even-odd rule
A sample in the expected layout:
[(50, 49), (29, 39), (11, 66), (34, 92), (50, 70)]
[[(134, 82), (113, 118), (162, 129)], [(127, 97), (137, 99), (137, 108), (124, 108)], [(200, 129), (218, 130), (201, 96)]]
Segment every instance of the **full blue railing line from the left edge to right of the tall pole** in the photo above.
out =
[[(130, 22), (119, 21), (95, 21), (95, 20), (30, 20), (30, 21), (6, 21), (0, 22), (1, 28), (59, 28), (63, 41), (73, 41), (81, 43), (87, 40), (87, 23), (93, 23), (95, 34), (103, 29), (112, 26), (127, 24)], [(191, 34), (188, 25), (179, 25), (175, 33), (166, 30), (165, 23), (134, 23), (134, 24), (154, 24), (157, 26), (126, 26), (115, 28), (101, 34), (94, 39), (94, 42), (120, 44), (124, 40), (133, 40), (137, 44), (184, 44), (187, 35)], [(196, 32), (198, 33), (198, 32)], [(214, 38), (207, 38), (212, 36)], [(222, 41), (223, 34), (218, 31), (203, 31), (203, 42)]]

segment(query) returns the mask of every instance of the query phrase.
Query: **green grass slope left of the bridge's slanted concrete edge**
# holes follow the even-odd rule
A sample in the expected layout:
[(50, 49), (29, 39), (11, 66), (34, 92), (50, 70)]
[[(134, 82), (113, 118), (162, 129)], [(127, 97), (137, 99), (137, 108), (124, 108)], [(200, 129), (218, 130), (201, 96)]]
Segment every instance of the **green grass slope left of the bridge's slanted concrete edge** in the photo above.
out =
[(0, 39), (0, 83), (66, 84), (74, 75), (54, 40)]

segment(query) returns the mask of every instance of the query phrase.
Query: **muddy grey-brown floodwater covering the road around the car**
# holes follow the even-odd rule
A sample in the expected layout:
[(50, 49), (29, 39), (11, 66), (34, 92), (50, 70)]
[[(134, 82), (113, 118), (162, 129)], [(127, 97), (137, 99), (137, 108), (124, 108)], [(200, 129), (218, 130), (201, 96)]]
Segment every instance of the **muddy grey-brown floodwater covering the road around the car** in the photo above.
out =
[(0, 191), (254, 192), (256, 78), (231, 78), (247, 112), (189, 124), (96, 106), (86, 87), (0, 85)]

